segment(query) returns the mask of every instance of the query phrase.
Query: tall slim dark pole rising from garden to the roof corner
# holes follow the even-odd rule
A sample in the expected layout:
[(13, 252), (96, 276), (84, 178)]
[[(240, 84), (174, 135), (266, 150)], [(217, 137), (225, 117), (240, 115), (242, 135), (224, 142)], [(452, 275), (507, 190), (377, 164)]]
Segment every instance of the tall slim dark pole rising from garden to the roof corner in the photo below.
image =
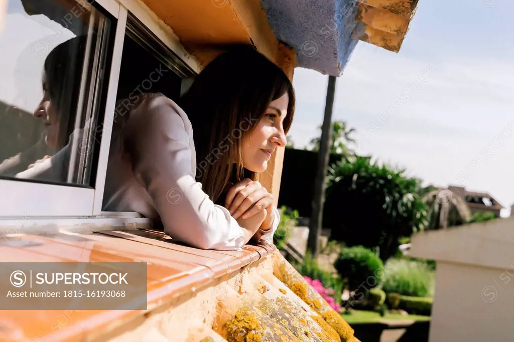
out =
[(325, 200), (325, 177), (330, 156), (329, 142), (332, 141), (332, 111), (334, 109), (334, 98), (336, 95), (336, 77), (328, 77), (326, 88), (325, 115), (321, 126), (321, 138), (318, 153), (318, 171), (314, 182), (313, 210), (309, 220), (309, 236), (307, 239), (307, 250), (314, 258), (319, 254), (319, 237), (323, 223), (323, 204)]

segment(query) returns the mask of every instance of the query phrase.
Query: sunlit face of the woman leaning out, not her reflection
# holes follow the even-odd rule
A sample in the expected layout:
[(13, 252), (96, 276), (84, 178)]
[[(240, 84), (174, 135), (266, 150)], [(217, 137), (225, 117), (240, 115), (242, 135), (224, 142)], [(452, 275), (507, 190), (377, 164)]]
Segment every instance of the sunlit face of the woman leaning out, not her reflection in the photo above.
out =
[(268, 160), (275, 149), (286, 145), (283, 123), (287, 116), (288, 103), (287, 93), (270, 102), (255, 128), (243, 136), (242, 154), (245, 168), (253, 172), (263, 172), (268, 167)]

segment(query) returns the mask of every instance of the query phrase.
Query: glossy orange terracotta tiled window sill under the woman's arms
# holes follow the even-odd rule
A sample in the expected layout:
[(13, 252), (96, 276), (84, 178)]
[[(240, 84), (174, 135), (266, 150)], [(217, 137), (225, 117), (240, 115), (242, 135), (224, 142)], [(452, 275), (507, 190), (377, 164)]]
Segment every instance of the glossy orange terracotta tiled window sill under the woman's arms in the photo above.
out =
[[(191, 293), (269, 255), (274, 246), (205, 251), (149, 230), (23, 235), (6, 243), (0, 262), (148, 262), (148, 309)], [(138, 311), (0, 311), (0, 341), (79, 341)], [(59, 329), (57, 329), (59, 328)], [(96, 332), (96, 334), (95, 334)]]

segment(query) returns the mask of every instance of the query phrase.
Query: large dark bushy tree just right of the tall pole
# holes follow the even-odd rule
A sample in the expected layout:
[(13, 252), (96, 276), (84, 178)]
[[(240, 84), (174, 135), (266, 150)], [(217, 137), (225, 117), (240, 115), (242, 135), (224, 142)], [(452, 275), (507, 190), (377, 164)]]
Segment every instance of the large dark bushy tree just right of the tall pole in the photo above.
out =
[(324, 225), (332, 229), (332, 239), (378, 247), (386, 261), (396, 253), (400, 237), (427, 224), (419, 190), (419, 180), (407, 177), (405, 170), (369, 158), (342, 160), (329, 168)]

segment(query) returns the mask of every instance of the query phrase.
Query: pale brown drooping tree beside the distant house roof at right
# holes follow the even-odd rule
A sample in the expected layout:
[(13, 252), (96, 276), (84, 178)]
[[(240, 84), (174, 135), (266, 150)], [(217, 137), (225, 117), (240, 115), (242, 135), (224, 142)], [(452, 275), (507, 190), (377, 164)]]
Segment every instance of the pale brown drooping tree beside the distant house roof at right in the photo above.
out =
[(447, 229), (471, 220), (471, 212), (466, 201), (447, 188), (429, 192), (423, 198), (428, 206), (427, 230)]

